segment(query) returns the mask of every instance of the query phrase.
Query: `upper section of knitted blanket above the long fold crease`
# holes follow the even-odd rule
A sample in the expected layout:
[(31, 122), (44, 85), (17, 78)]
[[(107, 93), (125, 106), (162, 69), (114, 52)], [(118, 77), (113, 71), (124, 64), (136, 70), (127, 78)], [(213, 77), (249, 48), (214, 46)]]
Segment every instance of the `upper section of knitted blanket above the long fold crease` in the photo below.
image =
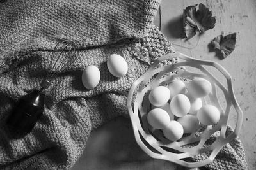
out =
[[(17, 53), (51, 50), (70, 39), (81, 47), (142, 38), (154, 20), (158, 1), (7, 1), (0, 4), (1, 72)], [(19, 62), (19, 61), (16, 61)]]

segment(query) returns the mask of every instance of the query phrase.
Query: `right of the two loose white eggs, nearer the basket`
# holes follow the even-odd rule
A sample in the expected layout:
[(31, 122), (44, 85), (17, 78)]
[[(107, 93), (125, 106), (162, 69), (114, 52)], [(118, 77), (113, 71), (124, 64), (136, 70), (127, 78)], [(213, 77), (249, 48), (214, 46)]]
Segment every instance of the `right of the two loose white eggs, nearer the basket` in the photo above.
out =
[(107, 66), (109, 72), (118, 78), (125, 76), (128, 71), (128, 64), (124, 57), (117, 54), (112, 54), (109, 56)]

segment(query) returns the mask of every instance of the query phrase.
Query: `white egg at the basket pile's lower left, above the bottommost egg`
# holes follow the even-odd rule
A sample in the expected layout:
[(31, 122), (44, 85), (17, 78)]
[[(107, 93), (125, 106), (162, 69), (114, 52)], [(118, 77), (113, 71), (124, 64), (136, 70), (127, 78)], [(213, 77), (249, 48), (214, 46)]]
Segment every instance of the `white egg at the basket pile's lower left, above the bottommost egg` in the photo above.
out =
[(160, 108), (150, 110), (147, 115), (148, 124), (156, 129), (164, 129), (170, 123), (168, 113)]

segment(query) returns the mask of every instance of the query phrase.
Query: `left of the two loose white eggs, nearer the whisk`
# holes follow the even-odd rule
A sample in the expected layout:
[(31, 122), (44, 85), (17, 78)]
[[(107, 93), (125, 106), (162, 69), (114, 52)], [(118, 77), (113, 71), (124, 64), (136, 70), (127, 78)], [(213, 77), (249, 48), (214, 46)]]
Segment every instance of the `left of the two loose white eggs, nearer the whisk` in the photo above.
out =
[(82, 74), (82, 82), (86, 89), (93, 89), (100, 81), (100, 71), (96, 66), (88, 66)]

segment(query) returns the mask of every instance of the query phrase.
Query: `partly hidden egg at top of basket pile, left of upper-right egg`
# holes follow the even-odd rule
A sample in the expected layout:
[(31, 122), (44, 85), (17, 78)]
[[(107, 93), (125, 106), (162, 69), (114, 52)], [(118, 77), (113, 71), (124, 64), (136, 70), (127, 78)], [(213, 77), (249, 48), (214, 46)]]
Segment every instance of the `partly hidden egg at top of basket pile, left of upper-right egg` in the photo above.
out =
[(170, 100), (172, 100), (172, 97), (176, 96), (177, 94), (185, 93), (186, 85), (181, 80), (174, 80), (168, 85), (168, 89), (170, 90)]

